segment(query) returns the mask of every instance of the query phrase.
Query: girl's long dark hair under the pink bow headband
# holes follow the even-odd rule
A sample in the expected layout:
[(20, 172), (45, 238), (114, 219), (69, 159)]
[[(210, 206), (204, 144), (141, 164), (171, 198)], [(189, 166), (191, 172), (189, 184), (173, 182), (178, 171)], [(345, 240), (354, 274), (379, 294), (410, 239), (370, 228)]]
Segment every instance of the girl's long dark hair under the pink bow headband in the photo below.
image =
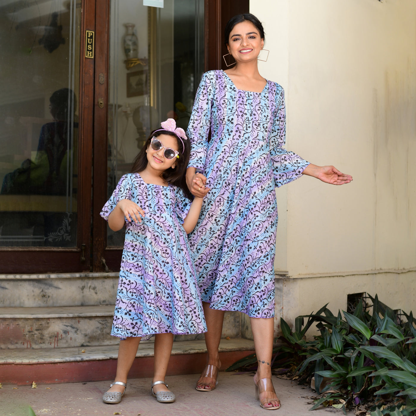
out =
[[(191, 154), (191, 144), (189, 143), (189, 140), (183, 140), (183, 145), (181, 139), (179, 139), (178, 136), (176, 136), (175, 133), (168, 130), (160, 130), (160, 131), (152, 131), (149, 138), (146, 140), (146, 143), (143, 146), (143, 149), (139, 152), (139, 154), (134, 158), (133, 163), (131, 164), (131, 171), (130, 173), (139, 173), (144, 171), (147, 166), (147, 156), (146, 156), (146, 150), (150, 146), (150, 142), (153, 137), (158, 137), (161, 134), (166, 134), (168, 136), (172, 136), (176, 138), (176, 141), (178, 143), (178, 151), (179, 151), (179, 158), (175, 158), (176, 161), (176, 167), (174, 169), (168, 168), (166, 171), (163, 171), (161, 173), (161, 178), (163, 178), (166, 182), (171, 183), (173, 186), (178, 186), (179, 188), (182, 188), (185, 195), (192, 199), (192, 194), (188, 189), (188, 186), (186, 185), (186, 168), (188, 167), (189, 162), (189, 155)], [(185, 149), (183, 149), (185, 147)], [(183, 153), (182, 153), (183, 151)]]

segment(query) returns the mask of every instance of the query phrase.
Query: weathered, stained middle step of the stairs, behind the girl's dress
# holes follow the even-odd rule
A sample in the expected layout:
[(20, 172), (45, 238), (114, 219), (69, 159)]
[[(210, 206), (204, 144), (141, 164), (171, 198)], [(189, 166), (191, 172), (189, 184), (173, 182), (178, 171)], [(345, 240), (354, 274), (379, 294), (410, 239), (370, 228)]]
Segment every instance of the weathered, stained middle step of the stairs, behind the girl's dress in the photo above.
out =
[[(110, 335), (114, 305), (0, 308), (0, 349), (43, 349), (118, 345)], [(240, 312), (225, 312), (222, 337), (241, 336)], [(203, 340), (203, 334), (175, 341)], [(151, 342), (153, 339), (151, 339)]]

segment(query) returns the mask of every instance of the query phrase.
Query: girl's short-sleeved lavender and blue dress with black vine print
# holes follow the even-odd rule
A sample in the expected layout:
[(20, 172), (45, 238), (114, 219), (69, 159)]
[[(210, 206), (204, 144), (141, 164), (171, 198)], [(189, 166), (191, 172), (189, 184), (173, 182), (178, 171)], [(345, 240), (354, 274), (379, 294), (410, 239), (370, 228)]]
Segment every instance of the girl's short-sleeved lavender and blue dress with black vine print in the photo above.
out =
[(146, 183), (139, 173), (121, 177), (100, 215), (108, 220), (122, 199), (143, 208), (136, 224), (126, 220), (111, 335), (206, 332), (188, 238), (182, 226), (191, 207), (181, 188)]

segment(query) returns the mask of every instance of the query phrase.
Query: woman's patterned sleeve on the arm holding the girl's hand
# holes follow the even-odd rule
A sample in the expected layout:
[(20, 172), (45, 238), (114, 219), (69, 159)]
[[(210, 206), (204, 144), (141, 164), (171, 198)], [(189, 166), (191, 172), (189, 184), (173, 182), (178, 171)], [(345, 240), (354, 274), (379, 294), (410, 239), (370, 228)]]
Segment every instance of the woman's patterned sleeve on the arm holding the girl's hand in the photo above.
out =
[(191, 119), (189, 120), (188, 134), (191, 140), (191, 156), (188, 167), (204, 170), (205, 158), (208, 149), (208, 133), (211, 121), (211, 104), (213, 99), (213, 82), (210, 74), (203, 74), (196, 92)]

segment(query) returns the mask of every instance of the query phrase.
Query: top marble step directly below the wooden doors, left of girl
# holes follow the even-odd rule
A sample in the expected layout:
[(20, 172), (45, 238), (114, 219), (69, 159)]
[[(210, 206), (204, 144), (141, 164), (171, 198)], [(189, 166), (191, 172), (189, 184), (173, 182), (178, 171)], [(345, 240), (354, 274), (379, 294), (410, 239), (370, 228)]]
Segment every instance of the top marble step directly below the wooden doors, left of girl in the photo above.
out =
[(114, 305), (119, 273), (0, 275), (0, 307)]

